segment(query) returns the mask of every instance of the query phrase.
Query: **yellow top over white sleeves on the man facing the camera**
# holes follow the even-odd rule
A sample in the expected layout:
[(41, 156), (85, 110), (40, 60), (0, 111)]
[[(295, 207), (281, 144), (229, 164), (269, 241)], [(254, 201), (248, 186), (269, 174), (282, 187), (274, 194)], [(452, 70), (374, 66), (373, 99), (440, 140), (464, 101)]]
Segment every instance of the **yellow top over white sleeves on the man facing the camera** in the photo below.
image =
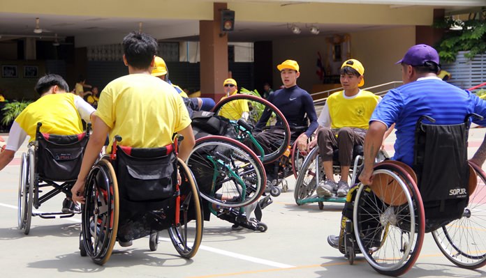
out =
[(333, 93), (327, 98), (331, 117), (331, 128), (368, 129), (369, 118), (378, 105), (379, 96), (361, 91), (355, 98), (344, 98), (344, 91)]

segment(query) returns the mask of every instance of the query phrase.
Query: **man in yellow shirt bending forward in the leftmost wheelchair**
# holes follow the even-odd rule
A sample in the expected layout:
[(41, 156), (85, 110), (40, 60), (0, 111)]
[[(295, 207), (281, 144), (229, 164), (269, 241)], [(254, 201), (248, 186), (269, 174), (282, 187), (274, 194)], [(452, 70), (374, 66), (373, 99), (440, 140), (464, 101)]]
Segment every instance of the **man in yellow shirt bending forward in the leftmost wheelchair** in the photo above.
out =
[[(8, 142), (0, 153), (0, 170), (13, 160), (15, 152), (22, 146), (27, 136), (36, 139), (37, 123), (42, 123), (40, 132), (58, 135), (82, 133), (81, 119), (89, 122), (94, 108), (80, 96), (66, 93), (68, 84), (59, 75), (45, 75), (36, 84), (40, 98), (32, 102), (20, 113), (10, 128)], [(63, 202), (63, 213), (77, 213), (79, 208), (70, 198)]]

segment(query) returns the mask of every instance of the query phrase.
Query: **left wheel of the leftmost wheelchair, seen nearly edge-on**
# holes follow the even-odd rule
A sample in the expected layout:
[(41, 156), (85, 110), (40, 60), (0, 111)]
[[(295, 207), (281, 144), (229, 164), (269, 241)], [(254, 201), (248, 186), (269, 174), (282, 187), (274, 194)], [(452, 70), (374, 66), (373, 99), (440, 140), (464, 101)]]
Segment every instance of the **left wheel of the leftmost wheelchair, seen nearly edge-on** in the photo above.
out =
[(32, 206), (34, 203), (34, 186), (31, 186), (35, 178), (34, 158), (34, 151), (29, 149), (28, 155), (22, 153), (20, 162), (17, 224), (19, 229), (24, 231), (26, 235), (30, 231)]

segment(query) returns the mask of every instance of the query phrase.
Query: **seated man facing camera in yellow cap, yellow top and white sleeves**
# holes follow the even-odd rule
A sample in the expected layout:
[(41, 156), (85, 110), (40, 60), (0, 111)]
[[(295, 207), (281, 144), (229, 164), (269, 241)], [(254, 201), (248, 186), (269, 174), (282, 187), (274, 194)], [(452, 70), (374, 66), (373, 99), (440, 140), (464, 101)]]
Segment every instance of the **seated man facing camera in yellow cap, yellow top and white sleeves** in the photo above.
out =
[[(351, 167), (353, 147), (362, 145), (368, 130), (371, 114), (381, 97), (359, 87), (364, 85), (364, 67), (360, 61), (349, 59), (341, 65), (340, 82), (344, 90), (333, 93), (327, 98), (318, 118), (317, 138), (310, 146), (318, 144), (325, 180), (318, 185), (318, 196), (339, 197), (348, 194), (348, 173)], [(334, 180), (332, 153), (339, 148), (341, 180)]]

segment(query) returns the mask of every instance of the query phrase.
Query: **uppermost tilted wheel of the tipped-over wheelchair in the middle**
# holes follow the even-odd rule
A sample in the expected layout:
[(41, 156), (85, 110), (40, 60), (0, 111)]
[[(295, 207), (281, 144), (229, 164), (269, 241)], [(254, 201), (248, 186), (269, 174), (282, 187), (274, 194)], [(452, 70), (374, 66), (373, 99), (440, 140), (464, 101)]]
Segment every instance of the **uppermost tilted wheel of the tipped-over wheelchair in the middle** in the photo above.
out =
[[(262, 158), (263, 164), (267, 164), (270, 162), (274, 162), (275, 160), (278, 160), (279, 157), (281, 157), (283, 153), (285, 153), (288, 146), (290, 145), (290, 128), (285, 116), (283, 116), (281, 111), (277, 107), (275, 107), (275, 105), (272, 105), (272, 103), (268, 102), (267, 100), (260, 98), (256, 95), (246, 95), (246, 94), (230, 95), (228, 98), (224, 98), (220, 102), (216, 103), (216, 105), (212, 109), (212, 112), (214, 112), (214, 114), (216, 115), (221, 116), (223, 114), (223, 111), (232, 110), (232, 107), (239, 107), (239, 105), (234, 105), (234, 103), (236, 103), (239, 100), (246, 100), (248, 102), (249, 107), (252, 107), (247, 121), (247, 123), (249, 123), (251, 126), (254, 127), (256, 123), (258, 123), (260, 117), (262, 116), (262, 112), (265, 109), (270, 109), (273, 112), (272, 115), (275, 115), (274, 116), (275, 118), (272, 117), (270, 118), (270, 120), (268, 121), (270, 122), (270, 124), (267, 123), (265, 129), (274, 126), (274, 123), (277, 122), (283, 125), (283, 138), (271, 142), (272, 152), (263, 154), (263, 158)], [(221, 109), (223, 109), (223, 111)], [(230, 120), (237, 121), (238, 119), (230, 119)], [(252, 134), (256, 134), (256, 133), (252, 132)], [(253, 143), (249, 139), (244, 139), (244, 141), (245, 144), (249, 146), (253, 145)], [(251, 149), (256, 150), (257, 148), (256, 146), (251, 146)], [(258, 157), (262, 156), (261, 153), (259, 153), (258, 151), (255, 151), (255, 153), (256, 155), (258, 155)]]

